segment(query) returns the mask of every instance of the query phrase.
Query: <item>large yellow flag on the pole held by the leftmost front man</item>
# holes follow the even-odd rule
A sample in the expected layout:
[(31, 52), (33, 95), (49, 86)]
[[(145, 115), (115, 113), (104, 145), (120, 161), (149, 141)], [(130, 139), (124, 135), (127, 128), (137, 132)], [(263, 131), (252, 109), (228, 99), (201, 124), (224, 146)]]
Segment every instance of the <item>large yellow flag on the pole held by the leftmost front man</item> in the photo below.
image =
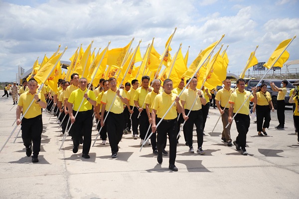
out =
[[(45, 81), (48, 79), (48, 77), (53, 76), (55, 73), (55, 70), (53, 69), (58, 64), (58, 61), (60, 60), (61, 53), (54, 56), (52, 59), (50, 59), (34, 76), (34, 79), (36, 79), (37, 83), (45, 83)], [(53, 70), (53, 71), (52, 71)], [(52, 71), (52, 73), (50, 73)], [(61, 73), (60, 73), (61, 74)]]

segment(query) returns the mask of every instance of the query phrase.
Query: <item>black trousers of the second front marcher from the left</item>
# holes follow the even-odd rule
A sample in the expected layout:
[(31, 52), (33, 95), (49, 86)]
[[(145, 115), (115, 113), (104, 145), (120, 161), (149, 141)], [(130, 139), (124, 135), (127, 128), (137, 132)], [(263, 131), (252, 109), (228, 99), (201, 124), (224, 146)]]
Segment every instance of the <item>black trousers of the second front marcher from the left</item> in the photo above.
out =
[[(73, 111), (74, 116), (77, 111)], [(75, 122), (72, 126), (72, 137), (74, 146), (79, 146), (80, 138), (83, 134), (83, 154), (88, 154), (91, 146), (91, 131), (92, 131), (92, 114), (93, 110), (78, 112)]]

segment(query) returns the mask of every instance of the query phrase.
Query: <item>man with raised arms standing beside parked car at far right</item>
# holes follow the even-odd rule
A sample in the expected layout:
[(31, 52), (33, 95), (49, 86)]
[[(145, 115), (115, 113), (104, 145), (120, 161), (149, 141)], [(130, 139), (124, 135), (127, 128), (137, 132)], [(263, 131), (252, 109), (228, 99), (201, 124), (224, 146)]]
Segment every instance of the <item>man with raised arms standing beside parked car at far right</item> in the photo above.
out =
[(287, 85), (288, 85), (288, 80), (283, 80), (281, 83), (281, 88), (277, 87), (274, 82), (271, 82), (270, 85), (272, 87), (273, 91), (278, 91), (278, 96), (277, 96), (277, 118), (279, 125), (276, 126), (275, 128), (284, 130), (285, 129), (285, 97), (287, 94)]

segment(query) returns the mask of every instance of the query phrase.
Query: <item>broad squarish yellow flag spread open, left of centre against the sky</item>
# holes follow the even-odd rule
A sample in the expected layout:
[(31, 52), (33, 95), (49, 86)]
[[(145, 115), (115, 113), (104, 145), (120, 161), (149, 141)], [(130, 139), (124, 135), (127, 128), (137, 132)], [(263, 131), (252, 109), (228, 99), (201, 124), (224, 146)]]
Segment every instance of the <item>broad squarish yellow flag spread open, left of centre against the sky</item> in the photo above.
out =
[(129, 47), (131, 46), (132, 41), (130, 41), (129, 44), (123, 48), (114, 48), (108, 50), (109, 56), (107, 60), (107, 65), (109, 66), (115, 65), (121, 67), (123, 60), (125, 59), (126, 53), (129, 50)]

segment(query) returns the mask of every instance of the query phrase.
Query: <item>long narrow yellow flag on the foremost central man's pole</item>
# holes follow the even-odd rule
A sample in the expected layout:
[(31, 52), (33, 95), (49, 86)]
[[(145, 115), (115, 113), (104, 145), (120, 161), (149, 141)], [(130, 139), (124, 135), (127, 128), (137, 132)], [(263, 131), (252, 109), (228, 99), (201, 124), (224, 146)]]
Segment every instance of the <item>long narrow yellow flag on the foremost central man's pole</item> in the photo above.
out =
[(211, 45), (209, 45), (206, 49), (201, 51), (198, 56), (194, 59), (194, 61), (189, 66), (188, 70), (182, 75), (183, 77), (192, 77), (192, 75), (197, 71), (197, 67), (201, 65), (201, 61), (204, 61), (211, 50), (215, 47), (218, 41), (215, 41)]

